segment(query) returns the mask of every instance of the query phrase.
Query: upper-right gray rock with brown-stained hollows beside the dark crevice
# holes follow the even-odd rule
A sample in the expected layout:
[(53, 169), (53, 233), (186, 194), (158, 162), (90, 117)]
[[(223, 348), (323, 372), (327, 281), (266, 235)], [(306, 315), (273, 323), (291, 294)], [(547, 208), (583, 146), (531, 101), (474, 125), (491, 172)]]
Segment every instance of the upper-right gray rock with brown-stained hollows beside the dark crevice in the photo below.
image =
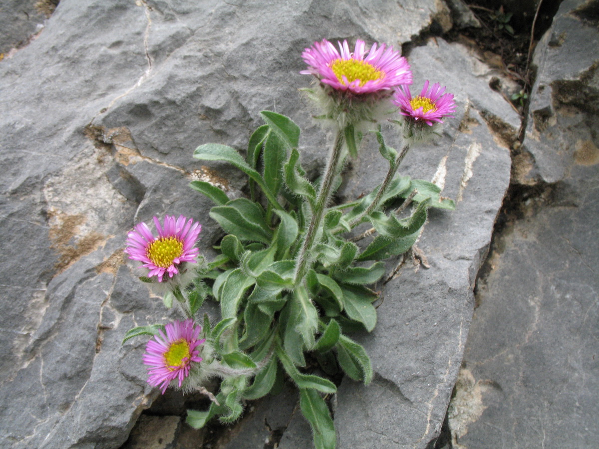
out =
[[(598, 7), (596, 1), (564, 1), (537, 45), (537, 79), (524, 142), (534, 162), (529, 174), (524, 170), (524, 179), (555, 183), (567, 177), (575, 153), (585, 153), (586, 145), (599, 145), (591, 132), (597, 128), (599, 111)], [(578, 138), (574, 141), (571, 135)]]

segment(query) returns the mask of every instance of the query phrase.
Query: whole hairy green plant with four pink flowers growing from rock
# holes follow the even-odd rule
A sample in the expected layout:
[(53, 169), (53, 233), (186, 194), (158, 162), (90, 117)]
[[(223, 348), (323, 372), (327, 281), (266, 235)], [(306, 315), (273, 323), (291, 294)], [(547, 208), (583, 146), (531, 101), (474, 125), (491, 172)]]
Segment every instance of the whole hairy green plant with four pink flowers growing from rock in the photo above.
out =
[[(210, 217), (226, 233), (216, 248), (219, 256), (210, 262), (194, 247), (201, 226), (193, 220), (167, 216), (161, 226), (155, 218), (158, 237), (144, 223), (129, 233), (126, 252), (147, 269), (140, 279), (164, 293), (165, 305), (177, 305), (186, 320), (136, 327), (125, 341), (154, 336), (144, 356), (153, 386), (210, 397), (207, 410), (188, 411), (191, 426), (202, 427), (215, 416), (223, 423), (238, 420), (244, 401), (276, 392), (286, 375), (299, 389), (314, 444), (333, 448), (334, 424), (323, 399), (337, 390), (326, 377), (329, 367), (370, 383), (370, 359), (347, 334), (370, 332), (376, 325), (377, 293), (370, 286), (385, 274), (383, 260), (412, 247), (428, 208), (454, 207), (441, 198), (439, 187), (397, 171), (410, 145), (434, 136), (455, 106), (438, 83), (429, 90), (426, 81), (413, 97), (406, 59), (385, 44), (366, 51), (358, 40), (350, 51), (346, 41), (337, 50), (323, 40), (302, 57), (308, 65), (302, 73), (314, 77), (305, 92), (320, 109), (317, 119), (335, 133), (320, 186), (305, 177), (298, 126), (271, 111), (261, 113), (265, 124), (250, 136), (246, 157), (221, 144), (196, 148), (196, 159), (225, 161), (243, 171), (250, 198), (231, 200), (210, 183), (191, 183), (214, 202)], [(401, 151), (386, 145), (376, 125), (388, 119), (402, 127)], [(370, 128), (376, 128), (372, 132), (389, 162), (388, 173), (363, 198), (329, 205), (344, 161), (359, 157)], [(409, 216), (397, 216), (391, 206), (406, 201), (415, 207)], [(373, 239), (358, 247), (351, 236), (362, 223), (373, 227)], [(206, 315), (198, 316), (207, 299), (220, 304), (221, 319), (214, 326)], [(306, 353), (325, 375), (306, 372)], [(215, 395), (204, 388), (211, 377), (222, 379)]]

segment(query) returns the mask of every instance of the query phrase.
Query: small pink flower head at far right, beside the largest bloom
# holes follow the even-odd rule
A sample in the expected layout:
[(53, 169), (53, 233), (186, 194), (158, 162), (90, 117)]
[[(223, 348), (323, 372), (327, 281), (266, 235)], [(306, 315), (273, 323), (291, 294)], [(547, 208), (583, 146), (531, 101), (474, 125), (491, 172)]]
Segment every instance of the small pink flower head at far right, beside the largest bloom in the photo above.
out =
[(455, 102), (453, 95), (446, 93), (445, 87), (440, 89), (440, 84), (432, 85), (428, 92), (428, 80), (424, 83), (420, 95), (412, 98), (409, 86), (401, 86), (395, 92), (393, 102), (400, 107), (400, 114), (407, 117), (412, 117), (418, 122), (422, 120), (426, 125), (432, 125), (432, 122), (443, 123), (443, 117), (453, 117), (450, 115), (455, 112)]

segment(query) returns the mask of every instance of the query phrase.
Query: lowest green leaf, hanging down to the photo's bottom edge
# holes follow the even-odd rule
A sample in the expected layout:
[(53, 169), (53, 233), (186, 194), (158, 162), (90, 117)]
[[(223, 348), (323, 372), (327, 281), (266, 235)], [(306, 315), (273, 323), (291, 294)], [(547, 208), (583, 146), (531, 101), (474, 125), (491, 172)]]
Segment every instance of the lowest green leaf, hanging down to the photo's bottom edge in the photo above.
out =
[(314, 390), (300, 389), (299, 407), (312, 427), (314, 448), (335, 449), (337, 434), (324, 399)]

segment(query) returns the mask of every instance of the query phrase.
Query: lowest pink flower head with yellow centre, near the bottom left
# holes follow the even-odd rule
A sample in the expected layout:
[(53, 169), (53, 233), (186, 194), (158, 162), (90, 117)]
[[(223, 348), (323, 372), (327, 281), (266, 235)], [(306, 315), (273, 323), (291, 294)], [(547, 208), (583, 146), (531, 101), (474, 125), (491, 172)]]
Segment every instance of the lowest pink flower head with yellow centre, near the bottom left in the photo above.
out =
[(173, 321), (164, 326), (146, 345), (143, 355), (144, 365), (148, 366), (148, 383), (161, 387), (162, 394), (171, 381), (179, 379), (179, 387), (189, 376), (192, 362), (201, 362), (198, 346), (205, 339), (198, 339), (202, 327), (193, 323), (191, 318), (185, 321)]

